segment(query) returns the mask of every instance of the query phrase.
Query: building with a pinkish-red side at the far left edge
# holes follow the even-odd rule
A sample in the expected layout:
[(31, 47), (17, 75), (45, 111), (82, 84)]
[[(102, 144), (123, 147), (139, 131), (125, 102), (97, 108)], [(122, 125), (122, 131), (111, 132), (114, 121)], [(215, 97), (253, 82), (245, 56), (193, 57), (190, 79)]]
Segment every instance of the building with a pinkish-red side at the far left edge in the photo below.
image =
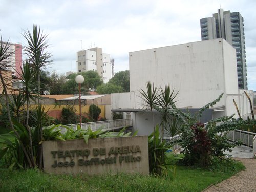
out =
[[(3, 42), (6, 45), (6, 42)], [(9, 53), (12, 53), (10, 57), (2, 61), (5, 62), (8, 67), (5, 70), (9, 70), (13, 75), (20, 77), (22, 72), (22, 45), (9, 43)]]

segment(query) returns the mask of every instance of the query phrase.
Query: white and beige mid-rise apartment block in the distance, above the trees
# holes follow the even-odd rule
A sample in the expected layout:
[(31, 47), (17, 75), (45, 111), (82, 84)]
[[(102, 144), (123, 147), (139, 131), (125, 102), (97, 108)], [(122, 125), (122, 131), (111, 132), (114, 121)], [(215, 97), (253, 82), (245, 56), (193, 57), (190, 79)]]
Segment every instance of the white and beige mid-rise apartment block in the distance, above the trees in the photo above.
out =
[(77, 72), (97, 71), (104, 83), (111, 78), (110, 54), (102, 53), (102, 48), (91, 48), (77, 52)]

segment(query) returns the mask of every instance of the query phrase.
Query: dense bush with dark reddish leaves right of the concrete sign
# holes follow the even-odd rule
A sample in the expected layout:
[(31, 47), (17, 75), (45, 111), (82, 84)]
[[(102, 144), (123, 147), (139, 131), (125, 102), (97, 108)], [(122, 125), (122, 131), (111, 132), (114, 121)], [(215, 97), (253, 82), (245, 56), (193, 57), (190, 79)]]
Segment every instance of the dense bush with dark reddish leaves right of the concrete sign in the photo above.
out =
[(203, 111), (210, 106), (214, 106), (221, 99), (222, 95), (201, 108), (194, 117), (190, 114), (185, 116), (187, 122), (182, 127), (181, 138), (176, 142), (180, 142), (183, 149), (181, 153), (185, 155), (183, 162), (186, 165), (214, 166), (213, 159), (215, 157), (225, 159), (226, 154), (224, 152), (226, 150), (232, 151), (234, 146), (240, 145), (240, 142), (230, 143), (227, 138), (228, 131), (234, 130), (238, 126), (237, 122), (232, 119), (232, 116), (210, 120), (206, 128), (197, 122)]

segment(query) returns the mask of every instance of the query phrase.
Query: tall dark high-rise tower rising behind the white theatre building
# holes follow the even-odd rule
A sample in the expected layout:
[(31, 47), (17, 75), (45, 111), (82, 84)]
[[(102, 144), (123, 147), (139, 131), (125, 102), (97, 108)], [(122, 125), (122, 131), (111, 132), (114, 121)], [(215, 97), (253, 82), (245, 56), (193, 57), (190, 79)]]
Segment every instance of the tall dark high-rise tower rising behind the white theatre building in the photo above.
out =
[(212, 17), (200, 19), (201, 39), (224, 38), (237, 53), (238, 87), (247, 89), (244, 19), (239, 12), (218, 9)]

